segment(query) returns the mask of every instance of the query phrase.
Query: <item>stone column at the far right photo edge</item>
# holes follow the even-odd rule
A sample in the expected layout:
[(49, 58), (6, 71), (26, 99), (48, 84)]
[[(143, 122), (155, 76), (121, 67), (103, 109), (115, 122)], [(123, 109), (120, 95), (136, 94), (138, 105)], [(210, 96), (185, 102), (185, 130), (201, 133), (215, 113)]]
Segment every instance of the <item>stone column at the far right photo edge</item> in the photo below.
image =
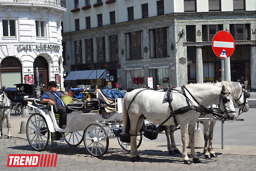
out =
[(251, 46), (251, 90), (256, 90), (256, 46)]

